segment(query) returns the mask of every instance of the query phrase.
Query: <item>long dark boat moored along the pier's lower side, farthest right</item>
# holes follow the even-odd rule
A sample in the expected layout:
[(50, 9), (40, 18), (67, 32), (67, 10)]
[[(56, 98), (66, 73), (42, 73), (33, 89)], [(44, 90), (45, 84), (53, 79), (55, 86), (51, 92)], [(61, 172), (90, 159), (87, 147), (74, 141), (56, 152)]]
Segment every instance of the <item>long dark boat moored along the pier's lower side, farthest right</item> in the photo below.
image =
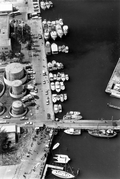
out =
[(88, 130), (88, 133), (95, 137), (106, 137), (106, 138), (112, 138), (117, 135), (117, 132), (115, 132), (112, 129), (95, 129), (95, 130)]

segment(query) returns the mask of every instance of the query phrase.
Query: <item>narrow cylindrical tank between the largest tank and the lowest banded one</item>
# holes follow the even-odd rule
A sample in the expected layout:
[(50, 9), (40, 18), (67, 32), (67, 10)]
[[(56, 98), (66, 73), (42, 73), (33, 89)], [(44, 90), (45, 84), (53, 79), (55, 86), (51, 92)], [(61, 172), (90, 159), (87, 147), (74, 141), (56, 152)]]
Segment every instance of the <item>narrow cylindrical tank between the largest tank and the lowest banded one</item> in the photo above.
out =
[(15, 80), (12, 82), (12, 93), (14, 95), (19, 95), (23, 91), (22, 81), (21, 80)]

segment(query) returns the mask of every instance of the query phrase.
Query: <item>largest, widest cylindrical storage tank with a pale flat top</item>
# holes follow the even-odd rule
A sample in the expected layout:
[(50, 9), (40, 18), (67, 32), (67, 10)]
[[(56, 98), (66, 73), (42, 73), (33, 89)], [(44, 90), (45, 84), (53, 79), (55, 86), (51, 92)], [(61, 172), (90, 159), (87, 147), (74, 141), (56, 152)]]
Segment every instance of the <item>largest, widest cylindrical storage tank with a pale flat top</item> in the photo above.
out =
[(6, 66), (6, 79), (9, 81), (19, 80), (24, 76), (24, 68), (20, 63), (11, 63)]

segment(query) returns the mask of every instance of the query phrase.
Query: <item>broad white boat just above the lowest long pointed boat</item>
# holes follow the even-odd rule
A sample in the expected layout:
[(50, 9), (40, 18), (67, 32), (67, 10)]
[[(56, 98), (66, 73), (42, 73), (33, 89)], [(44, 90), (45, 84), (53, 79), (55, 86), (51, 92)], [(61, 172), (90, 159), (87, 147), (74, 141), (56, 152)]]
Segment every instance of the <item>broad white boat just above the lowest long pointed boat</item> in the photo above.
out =
[(64, 155), (64, 154), (55, 154), (56, 156), (53, 157), (54, 159), (56, 159), (56, 163), (68, 163), (70, 161), (70, 158), (68, 157), (68, 155)]

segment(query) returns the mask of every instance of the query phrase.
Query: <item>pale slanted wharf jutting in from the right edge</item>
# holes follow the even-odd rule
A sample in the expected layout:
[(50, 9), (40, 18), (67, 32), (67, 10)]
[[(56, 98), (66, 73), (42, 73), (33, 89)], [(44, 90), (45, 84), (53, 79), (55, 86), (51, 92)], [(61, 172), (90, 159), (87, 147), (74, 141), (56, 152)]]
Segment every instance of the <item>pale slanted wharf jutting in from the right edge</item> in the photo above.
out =
[(116, 83), (120, 83), (120, 58), (117, 62), (117, 65), (112, 73), (112, 76), (108, 82), (108, 85), (105, 89), (105, 92), (106, 93), (111, 93), (111, 91), (113, 90), (112, 87), (113, 87), (113, 84), (116, 84)]

